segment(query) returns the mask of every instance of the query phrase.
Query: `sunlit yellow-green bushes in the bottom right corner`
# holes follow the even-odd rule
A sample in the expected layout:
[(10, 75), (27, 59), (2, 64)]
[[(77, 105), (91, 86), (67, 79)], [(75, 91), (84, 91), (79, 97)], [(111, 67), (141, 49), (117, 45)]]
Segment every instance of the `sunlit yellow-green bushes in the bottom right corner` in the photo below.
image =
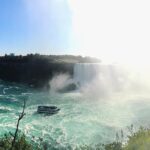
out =
[(84, 145), (76, 148), (76, 150), (150, 150), (150, 129), (139, 128), (137, 132), (133, 132), (133, 125), (128, 127), (130, 136), (124, 144), (121, 131), (121, 137), (116, 136), (116, 141), (108, 144), (99, 144), (95, 147)]

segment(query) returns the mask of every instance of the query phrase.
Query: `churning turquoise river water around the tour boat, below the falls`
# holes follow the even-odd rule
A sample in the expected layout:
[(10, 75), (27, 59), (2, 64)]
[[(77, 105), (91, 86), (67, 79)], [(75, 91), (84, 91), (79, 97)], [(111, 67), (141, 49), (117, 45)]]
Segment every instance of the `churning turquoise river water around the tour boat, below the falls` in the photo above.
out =
[[(148, 126), (150, 123), (149, 99), (87, 98), (80, 92), (51, 94), (22, 85), (0, 83), (0, 134), (13, 132), (23, 100), (27, 100), (25, 117), (20, 130), (27, 136), (42, 137), (57, 148), (83, 144), (107, 143), (115, 140), (116, 132), (127, 130), (133, 124)], [(38, 105), (55, 105), (58, 114), (37, 114)]]

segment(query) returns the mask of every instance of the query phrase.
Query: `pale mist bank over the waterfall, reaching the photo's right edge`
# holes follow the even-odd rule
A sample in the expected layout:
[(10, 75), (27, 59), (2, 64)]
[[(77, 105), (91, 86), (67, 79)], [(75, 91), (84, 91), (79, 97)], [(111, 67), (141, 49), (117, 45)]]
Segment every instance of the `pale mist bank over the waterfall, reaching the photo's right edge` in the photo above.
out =
[(77, 64), (74, 80), (90, 100), (130, 100), (149, 98), (149, 72), (123, 65)]

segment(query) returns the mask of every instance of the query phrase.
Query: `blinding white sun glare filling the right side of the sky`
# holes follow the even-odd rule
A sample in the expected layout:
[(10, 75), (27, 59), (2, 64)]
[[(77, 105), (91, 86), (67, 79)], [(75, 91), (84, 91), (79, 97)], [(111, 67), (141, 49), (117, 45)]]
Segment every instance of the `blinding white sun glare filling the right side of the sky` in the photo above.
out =
[(73, 33), (84, 55), (150, 64), (149, 2), (71, 0)]

